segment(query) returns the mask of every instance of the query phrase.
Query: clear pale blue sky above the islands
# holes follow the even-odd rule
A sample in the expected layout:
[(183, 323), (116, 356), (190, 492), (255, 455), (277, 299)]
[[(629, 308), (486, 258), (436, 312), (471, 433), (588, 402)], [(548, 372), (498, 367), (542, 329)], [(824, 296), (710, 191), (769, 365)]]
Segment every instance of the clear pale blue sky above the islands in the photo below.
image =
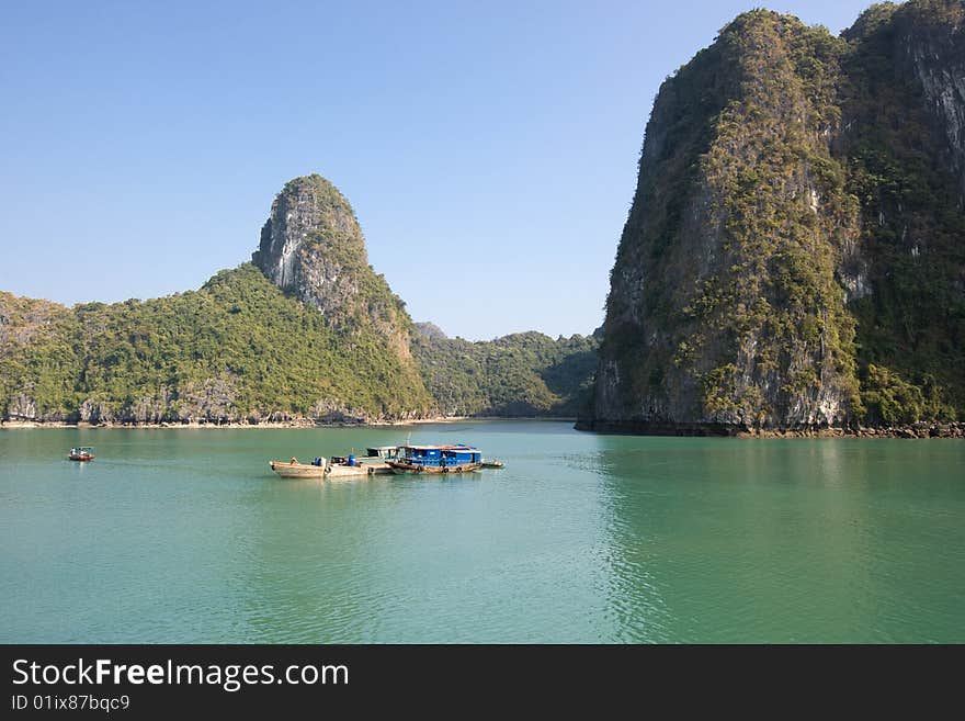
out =
[[(319, 172), (415, 319), (588, 334), (660, 82), (758, 4), (4, 3), (0, 290), (195, 289)], [(767, 7), (838, 32), (867, 4)], [(467, 272), (413, 278), (411, 254)]]

